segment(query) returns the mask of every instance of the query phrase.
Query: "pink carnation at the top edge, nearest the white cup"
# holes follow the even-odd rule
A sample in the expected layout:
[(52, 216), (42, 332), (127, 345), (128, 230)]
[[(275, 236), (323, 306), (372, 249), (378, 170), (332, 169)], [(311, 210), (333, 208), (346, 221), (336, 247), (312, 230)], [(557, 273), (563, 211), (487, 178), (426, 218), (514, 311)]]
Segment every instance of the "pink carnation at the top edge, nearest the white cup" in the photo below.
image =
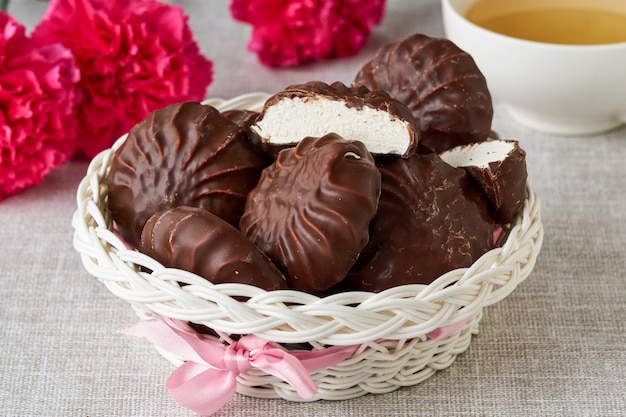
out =
[(384, 0), (232, 0), (252, 25), (248, 49), (267, 66), (294, 66), (359, 52), (382, 20)]

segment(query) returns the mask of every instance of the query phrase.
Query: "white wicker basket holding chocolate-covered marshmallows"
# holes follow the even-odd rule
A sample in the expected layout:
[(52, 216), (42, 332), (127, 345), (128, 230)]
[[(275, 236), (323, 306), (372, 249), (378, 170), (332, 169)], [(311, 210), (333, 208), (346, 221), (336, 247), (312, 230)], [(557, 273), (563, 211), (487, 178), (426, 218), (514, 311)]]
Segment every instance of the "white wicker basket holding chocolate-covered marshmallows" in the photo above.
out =
[[(206, 103), (222, 111), (259, 110), (267, 97), (253, 93)], [(113, 231), (106, 208), (106, 177), (111, 157), (124, 139), (92, 161), (78, 188), (74, 247), (87, 271), (140, 316), (157, 314), (201, 323), (226, 335), (254, 334), (277, 343), (309, 343), (315, 348), (359, 345), (338, 365), (311, 372), (318, 386), (312, 400), (391, 392), (448, 367), (478, 332), (483, 308), (502, 300), (528, 277), (543, 240), (539, 199), (529, 183), (523, 211), (505, 244), (470, 268), (450, 271), (428, 286), (319, 298), (291, 290), (213, 285), (128, 249)], [(237, 301), (240, 297), (248, 301)], [(458, 323), (465, 324), (443, 340), (426, 336)], [(180, 358), (165, 356), (180, 364)], [(237, 391), (246, 395), (302, 401), (292, 386), (262, 371), (240, 375), (237, 384)]]

